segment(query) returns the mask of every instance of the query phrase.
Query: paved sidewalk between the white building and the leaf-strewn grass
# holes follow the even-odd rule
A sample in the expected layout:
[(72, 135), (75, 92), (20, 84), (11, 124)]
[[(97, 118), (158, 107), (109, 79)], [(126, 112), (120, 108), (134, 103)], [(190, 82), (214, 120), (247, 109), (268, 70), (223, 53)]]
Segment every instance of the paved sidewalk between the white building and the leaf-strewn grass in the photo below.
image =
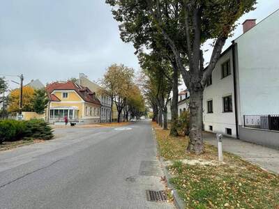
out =
[[(203, 137), (208, 144), (217, 146), (216, 134), (204, 132)], [(279, 173), (279, 150), (229, 137), (223, 139), (223, 150), (239, 155), (259, 167)]]

